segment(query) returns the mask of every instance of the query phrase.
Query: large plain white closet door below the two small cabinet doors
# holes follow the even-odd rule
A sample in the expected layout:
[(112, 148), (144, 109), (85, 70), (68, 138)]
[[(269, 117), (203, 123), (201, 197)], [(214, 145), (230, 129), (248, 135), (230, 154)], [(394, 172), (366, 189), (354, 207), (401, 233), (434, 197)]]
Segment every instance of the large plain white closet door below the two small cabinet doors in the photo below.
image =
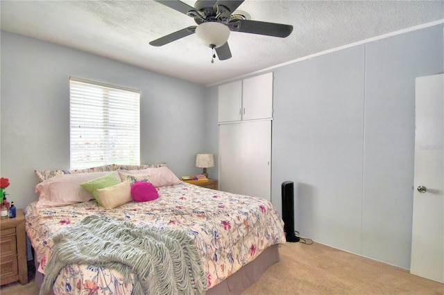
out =
[(219, 125), (219, 189), (271, 200), (271, 120)]

